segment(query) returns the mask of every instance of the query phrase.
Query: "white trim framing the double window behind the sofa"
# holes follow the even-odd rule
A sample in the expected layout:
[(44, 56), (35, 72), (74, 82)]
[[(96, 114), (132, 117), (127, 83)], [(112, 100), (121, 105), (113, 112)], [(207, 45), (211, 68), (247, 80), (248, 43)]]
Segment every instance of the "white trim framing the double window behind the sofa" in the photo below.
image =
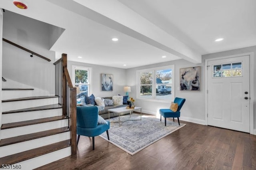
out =
[[(172, 98), (171, 99), (147, 99), (147, 98), (142, 98), (140, 97), (140, 73), (141, 72), (147, 72), (147, 71), (152, 71), (153, 72), (153, 77), (155, 77), (155, 71), (156, 70), (161, 70), (161, 69), (172, 69)], [(173, 101), (174, 100), (174, 85), (175, 85), (175, 80), (174, 80), (174, 77), (175, 77), (175, 73), (174, 73), (174, 65), (167, 65), (167, 66), (163, 66), (163, 67), (154, 67), (154, 68), (148, 68), (148, 69), (141, 69), (141, 70), (137, 70), (136, 71), (136, 99), (137, 100), (140, 100), (140, 101), (154, 101), (154, 102), (161, 102), (161, 103), (170, 103), (170, 101)], [(156, 84), (156, 80), (153, 79), (153, 82), (152, 82), (152, 96), (156, 95), (156, 90), (153, 90), (154, 89), (154, 86)]]

